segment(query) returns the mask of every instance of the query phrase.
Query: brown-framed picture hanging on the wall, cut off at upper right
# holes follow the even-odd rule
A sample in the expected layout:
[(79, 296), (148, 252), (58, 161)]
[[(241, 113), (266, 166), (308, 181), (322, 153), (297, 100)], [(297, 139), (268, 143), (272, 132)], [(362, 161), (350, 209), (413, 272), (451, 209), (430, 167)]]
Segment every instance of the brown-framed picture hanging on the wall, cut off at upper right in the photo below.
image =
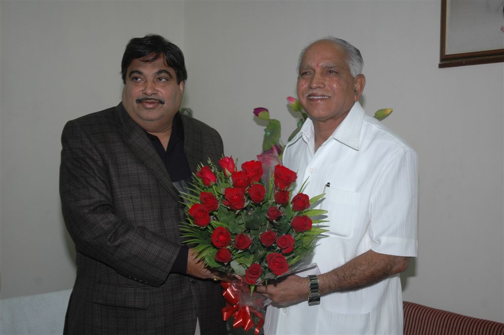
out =
[(441, 0), (439, 68), (504, 61), (504, 0)]

